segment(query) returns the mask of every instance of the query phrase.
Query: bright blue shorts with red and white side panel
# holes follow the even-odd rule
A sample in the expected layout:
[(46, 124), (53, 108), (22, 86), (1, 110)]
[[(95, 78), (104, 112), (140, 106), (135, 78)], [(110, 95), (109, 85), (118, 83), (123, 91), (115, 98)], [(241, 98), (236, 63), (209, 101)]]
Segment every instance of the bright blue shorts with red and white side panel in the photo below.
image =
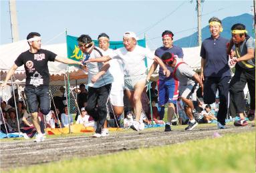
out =
[(176, 104), (178, 99), (178, 81), (168, 79), (167, 81), (158, 80), (158, 104), (160, 106), (166, 103)]

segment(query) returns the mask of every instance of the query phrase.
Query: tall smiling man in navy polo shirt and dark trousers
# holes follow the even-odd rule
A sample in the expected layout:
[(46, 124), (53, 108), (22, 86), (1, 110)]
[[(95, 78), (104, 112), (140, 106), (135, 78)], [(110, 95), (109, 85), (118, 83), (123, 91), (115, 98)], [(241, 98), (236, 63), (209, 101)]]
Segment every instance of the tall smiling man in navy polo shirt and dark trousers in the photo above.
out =
[(201, 81), (204, 83), (205, 104), (215, 102), (216, 92), (219, 90), (219, 112), (217, 114), (217, 126), (225, 128), (225, 118), (228, 109), (229, 81), (231, 71), (229, 67), (229, 55), (227, 54), (228, 39), (221, 37), (221, 20), (212, 17), (209, 20), (211, 37), (205, 39), (201, 46)]

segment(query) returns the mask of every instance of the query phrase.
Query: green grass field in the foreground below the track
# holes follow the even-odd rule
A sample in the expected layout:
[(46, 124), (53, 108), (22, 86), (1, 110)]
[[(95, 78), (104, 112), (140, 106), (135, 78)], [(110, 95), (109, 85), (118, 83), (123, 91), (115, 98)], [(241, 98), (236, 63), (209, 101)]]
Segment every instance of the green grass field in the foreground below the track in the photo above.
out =
[(255, 132), (73, 158), (11, 172), (255, 172)]

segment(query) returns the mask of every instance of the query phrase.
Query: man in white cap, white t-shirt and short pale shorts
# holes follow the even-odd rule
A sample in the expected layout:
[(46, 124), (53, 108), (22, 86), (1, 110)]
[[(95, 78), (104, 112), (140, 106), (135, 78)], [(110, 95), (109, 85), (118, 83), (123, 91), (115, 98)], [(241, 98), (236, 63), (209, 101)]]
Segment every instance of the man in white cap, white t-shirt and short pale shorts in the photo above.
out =
[[(166, 76), (170, 75), (170, 71), (166, 68), (162, 60), (159, 57), (156, 57), (150, 49), (137, 45), (137, 37), (135, 33), (130, 31), (124, 33), (123, 43), (124, 47), (116, 49), (112, 55), (97, 59), (88, 59), (86, 63), (90, 63), (92, 61), (105, 62), (110, 59), (120, 59), (124, 67), (124, 90), (126, 90), (126, 95), (128, 96), (128, 99), (134, 108), (134, 114), (136, 115), (136, 121), (134, 121), (131, 128), (138, 131), (142, 130), (140, 127), (144, 127), (142, 126), (143, 122), (140, 122), (140, 115), (142, 112), (142, 103), (140, 98), (148, 79), (150, 79), (150, 75), (146, 75), (146, 57), (154, 59), (156, 63), (159, 63), (164, 69), (163, 72)], [(104, 74), (104, 69), (102, 69), (101, 72)]]

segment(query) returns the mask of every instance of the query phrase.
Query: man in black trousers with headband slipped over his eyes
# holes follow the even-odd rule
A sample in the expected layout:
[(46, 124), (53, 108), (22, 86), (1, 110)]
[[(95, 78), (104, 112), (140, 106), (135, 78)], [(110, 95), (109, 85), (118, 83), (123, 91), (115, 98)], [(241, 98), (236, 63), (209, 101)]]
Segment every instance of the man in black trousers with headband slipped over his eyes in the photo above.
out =
[[(89, 35), (81, 35), (78, 37), (78, 46), (84, 53), (84, 59), (101, 59), (105, 52), (96, 47), (92, 38)], [(88, 105), (86, 111), (94, 118), (97, 128), (93, 137), (102, 136), (102, 127), (107, 117), (108, 96), (110, 94), (111, 83), (113, 82), (112, 75), (106, 71), (96, 82), (92, 82), (92, 77), (96, 75), (104, 63), (88, 62)]]

